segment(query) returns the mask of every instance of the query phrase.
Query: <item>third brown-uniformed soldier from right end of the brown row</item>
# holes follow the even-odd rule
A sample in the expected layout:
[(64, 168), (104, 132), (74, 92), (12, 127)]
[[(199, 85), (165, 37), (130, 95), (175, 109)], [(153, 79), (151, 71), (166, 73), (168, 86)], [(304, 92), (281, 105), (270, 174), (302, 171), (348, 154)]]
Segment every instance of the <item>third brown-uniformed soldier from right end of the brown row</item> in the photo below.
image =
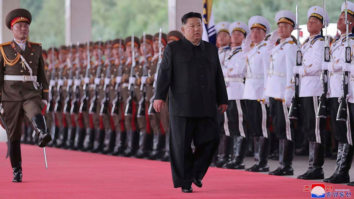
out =
[[(143, 35), (144, 36), (144, 35)], [(146, 70), (148, 70), (150, 61), (153, 56), (153, 36), (152, 35), (145, 35), (145, 42), (143, 36), (141, 37), (140, 41), (140, 53), (141, 56), (139, 58), (139, 62), (137, 63), (137, 66), (135, 68), (136, 72), (136, 81), (135, 81), (135, 93), (136, 93), (136, 99), (138, 102), (138, 106), (140, 107), (140, 102), (142, 102), (142, 97), (143, 97), (143, 92), (145, 89), (145, 95), (146, 95), (146, 79), (148, 76), (143, 76), (143, 70), (144, 67)], [(147, 72), (147, 71), (146, 71)], [(147, 74), (145, 74), (147, 75)], [(141, 86), (144, 86), (145, 88), (143, 91), (141, 91)], [(140, 136), (139, 136), (139, 149), (136, 154), (137, 158), (147, 158), (150, 155), (150, 152), (153, 148), (153, 130), (151, 129), (149, 118), (148, 118), (148, 108), (149, 108), (149, 101), (148, 98), (145, 96), (145, 112), (142, 113), (144, 115), (137, 115), (137, 120), (138, 120), (138, 125), (140, 129)], [(138, 109), (137, 109), (138, 110)], [(139, 114), (139, 113), (137, 113)], [(155, 143), (155, 142), (154, 142)]]

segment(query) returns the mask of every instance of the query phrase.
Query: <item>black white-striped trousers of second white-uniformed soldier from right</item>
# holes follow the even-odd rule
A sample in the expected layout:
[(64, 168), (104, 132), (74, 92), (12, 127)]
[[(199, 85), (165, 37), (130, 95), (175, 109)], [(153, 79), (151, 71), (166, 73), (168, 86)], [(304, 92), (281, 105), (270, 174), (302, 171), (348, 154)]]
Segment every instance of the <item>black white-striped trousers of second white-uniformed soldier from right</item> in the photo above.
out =
[(300, 99), (300, 120), (303, 132), (307, 134), (309, 141), (325, 144), (326, 119), (317, 117), (318, 96), (299, 97)]

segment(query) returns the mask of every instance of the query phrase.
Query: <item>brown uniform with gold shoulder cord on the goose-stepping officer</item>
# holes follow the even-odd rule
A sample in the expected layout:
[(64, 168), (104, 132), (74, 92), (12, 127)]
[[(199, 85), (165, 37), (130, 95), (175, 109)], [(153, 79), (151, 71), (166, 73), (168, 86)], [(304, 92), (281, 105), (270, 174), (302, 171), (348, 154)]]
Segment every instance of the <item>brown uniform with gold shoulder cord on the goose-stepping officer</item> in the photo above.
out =
[[(49, 86), (42, 57), (42, 47), (40, 44), (27, 41), (23, 51), (14, 41), (11, 41), (2, 44), (0, 50), (0, 63), (4, 63), (0, 67), (0, 100), (4, 108), (5, 122), (10, 131), (10, 141), (20, 140), (24, 114), (28, 118), (41, 114), (41, 110), (45, 106), (41, 99), (48, 101)], [(29, 69), (24, 66), (19, 54), (24, 57), (32, 69), (32, 74), (37, 76), (42, 90), (40, 87), (35, 89), (33, 81), (4, 80), (4, 75), (30, 75)]]

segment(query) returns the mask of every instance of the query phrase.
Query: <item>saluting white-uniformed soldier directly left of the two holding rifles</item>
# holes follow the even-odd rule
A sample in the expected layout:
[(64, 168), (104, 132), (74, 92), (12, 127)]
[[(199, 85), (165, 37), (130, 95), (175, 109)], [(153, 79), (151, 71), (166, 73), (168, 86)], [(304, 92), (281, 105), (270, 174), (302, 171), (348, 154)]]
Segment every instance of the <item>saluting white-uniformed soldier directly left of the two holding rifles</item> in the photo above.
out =
[[(293, 95), (293, 66), (296, 63), (297, 46), (291, 38), (295, 26), (295, 15), (289, 10), (276, 13), (278, 28), (267, 41), (270, 53), (265, 95), (269, 97), (270, 115), (273, 127), (279, 139), (280, 166), (270, 175), (293, 175), (292, 159), (294, 156), (293, 121), (288, 118), (289, 106)], [(280, 37), (280, 43), (275, 45)]]

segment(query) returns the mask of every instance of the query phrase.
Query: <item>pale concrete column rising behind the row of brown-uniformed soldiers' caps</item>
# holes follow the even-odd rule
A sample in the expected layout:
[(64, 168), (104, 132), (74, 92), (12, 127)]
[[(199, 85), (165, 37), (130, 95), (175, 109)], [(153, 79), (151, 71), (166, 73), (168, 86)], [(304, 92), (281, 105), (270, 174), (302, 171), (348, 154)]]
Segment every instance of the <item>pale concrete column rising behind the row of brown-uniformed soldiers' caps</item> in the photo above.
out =
[(65, 44), (91, 41), (91, 0), (65, 0)]

